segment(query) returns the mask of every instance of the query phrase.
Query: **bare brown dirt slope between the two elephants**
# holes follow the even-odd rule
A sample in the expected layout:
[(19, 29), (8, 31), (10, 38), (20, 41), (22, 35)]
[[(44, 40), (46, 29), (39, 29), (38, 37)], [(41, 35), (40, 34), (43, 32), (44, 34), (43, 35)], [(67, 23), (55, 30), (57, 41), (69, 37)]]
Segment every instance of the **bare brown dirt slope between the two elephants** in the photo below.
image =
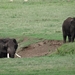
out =
[(63, 44), (62, 41), (44, 40), (29, 46), (23, 47), (18, 54), (21, 57), (34, 57), (48, 55), (54, 52), (59, 46)]

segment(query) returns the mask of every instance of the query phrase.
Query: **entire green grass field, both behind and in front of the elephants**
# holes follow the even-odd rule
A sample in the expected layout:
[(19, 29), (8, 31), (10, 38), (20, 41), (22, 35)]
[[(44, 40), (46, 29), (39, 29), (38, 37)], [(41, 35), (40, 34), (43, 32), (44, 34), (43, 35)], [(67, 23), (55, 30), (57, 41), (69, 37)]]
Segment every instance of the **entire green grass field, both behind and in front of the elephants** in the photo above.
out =
[[(74, 0), (0, 0), (0, 38), (62, 40), (62, 23), (74, 16)], [(74, 50), (74, 45), (63, 45), (58, 51)], [(75, 54), (0, 59), (0, 75), (75, 75)]]

